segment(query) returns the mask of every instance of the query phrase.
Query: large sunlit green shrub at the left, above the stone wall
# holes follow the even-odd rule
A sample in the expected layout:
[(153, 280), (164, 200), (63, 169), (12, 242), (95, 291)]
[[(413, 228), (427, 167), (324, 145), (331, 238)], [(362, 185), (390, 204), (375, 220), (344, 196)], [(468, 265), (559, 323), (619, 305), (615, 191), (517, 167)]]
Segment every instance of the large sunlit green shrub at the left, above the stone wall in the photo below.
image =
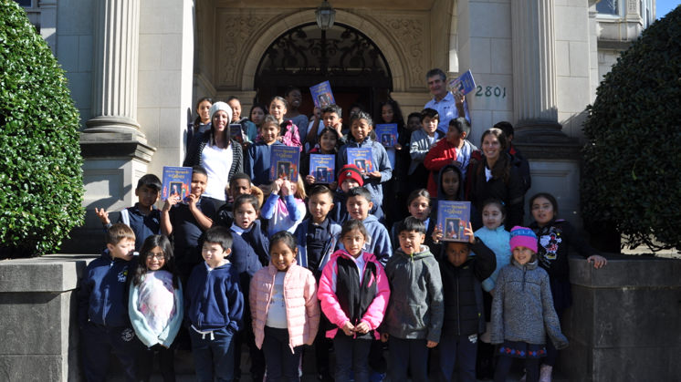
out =
[(0, 127), (0, 257), (56, 251), (83, 222), (79, 113), (12, 0), (0, 0)]

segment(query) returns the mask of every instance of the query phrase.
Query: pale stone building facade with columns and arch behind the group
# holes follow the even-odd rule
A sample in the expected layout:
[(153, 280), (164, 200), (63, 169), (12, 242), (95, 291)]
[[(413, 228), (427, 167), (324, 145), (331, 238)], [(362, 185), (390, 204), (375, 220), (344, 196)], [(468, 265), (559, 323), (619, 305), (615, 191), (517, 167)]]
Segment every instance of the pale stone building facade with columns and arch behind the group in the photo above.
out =
[[(93, 234), (100, 232), (95, 207), (130, 206), (141, 175), (161, 174), (163, 165), (182, 162), (197, 98), (237, 96), (246, 114), (254, 100), (280, 90), (277, 77), (272, 83), (261, 80), (267, 57), (284, 36), (299, 36), (299, 30), (317, 38), (310, 25), (320, 0), (19, 3), (66, 70), (80, 110), (88, 215), (86, 226), (74, 232), (79, 239), (66, 249), (91, 251), (100, 243), (100, 235)], [(371, 103), (390, 96), (406, 115), (430, 98), (428, 69), (440, 67), (453, 77), (470, 69), (478, 85), (468, 95), (471, 140), (478, 144), (482, 132), (499, 120), (513, 123), (514, 143), (530, 160), (529, 194), (553, 192), (562, 216), (579, 225), (584, 108), (619, 52), (655, 19), (655, 0), (336, 0), (331, 5), (336, 25), (327, 41), (366, 40), (342, 76), (329, 77), (341, 98), (364, 94)], [(369, 67), (361, 61), (368, 49), (377, 52), (372, 65), (385, 76), (372, 88), (361, 88), (351, 73)], [(314, 61), (298, 65), (291, 83), (306, 88), (307, 79), (308, 87), (314, 85), (324, 74), (319, 67)]]

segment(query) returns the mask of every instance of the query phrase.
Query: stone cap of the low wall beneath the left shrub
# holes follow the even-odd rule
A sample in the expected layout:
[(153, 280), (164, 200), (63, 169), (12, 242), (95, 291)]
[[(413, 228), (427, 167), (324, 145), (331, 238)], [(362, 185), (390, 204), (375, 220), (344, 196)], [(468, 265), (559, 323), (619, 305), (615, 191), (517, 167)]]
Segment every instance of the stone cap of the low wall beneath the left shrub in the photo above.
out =
[(0, 262), (0, 293), (74, 290), (86, 266), (96, 257), (89, 254), (49, 254)]

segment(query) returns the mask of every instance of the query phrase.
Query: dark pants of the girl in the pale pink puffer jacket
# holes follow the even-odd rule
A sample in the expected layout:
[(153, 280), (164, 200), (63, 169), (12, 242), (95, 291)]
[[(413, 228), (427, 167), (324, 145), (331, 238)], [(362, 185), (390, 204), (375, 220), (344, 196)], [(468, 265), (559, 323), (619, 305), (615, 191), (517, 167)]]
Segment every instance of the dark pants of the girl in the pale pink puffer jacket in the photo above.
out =
[(302, 346), (288, 346), (288, 329), (265, 326), (263, 353), (267, 369), (267, 382), (299, 382), (298, 366)]

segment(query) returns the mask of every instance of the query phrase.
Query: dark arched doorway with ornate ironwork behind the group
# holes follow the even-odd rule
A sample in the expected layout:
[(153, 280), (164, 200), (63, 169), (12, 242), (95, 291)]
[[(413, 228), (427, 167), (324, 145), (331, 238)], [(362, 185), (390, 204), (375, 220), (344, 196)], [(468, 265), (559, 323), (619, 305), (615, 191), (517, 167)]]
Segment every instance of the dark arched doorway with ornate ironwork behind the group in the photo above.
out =
[(337, 23), (322, 31), (309, 23), (289, 29), (267, 47), (256, 71), (254, 100), (265, 103), (295, 86), (303, 94), (300, 112), (311, 115), (309, 87), (328, 80), (344, 117), (355, 102), (375, 115), (393, 90), (392, 78), (381, 50), (357, 29)]

